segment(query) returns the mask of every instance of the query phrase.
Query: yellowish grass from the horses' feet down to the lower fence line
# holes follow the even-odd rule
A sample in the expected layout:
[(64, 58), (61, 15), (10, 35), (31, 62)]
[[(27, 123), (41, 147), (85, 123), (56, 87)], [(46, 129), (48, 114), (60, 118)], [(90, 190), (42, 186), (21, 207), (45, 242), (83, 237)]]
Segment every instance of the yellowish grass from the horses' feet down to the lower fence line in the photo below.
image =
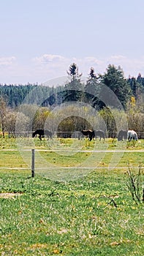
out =
[[(89, 142), (56, 138), (42, 141), (38, 138), (0, 138), (0, 167), (31, 167), (31, 148), (43, 150), (35, 154), (36, 167), (126, 167), (128, 162), (134, 166), (143, 165), (144, 152), (133, 151), (143, 150), (144, 140), (134, 146), (133, 143), (112, 139)], [(29, 151), (24, 151), (26, 149)]]

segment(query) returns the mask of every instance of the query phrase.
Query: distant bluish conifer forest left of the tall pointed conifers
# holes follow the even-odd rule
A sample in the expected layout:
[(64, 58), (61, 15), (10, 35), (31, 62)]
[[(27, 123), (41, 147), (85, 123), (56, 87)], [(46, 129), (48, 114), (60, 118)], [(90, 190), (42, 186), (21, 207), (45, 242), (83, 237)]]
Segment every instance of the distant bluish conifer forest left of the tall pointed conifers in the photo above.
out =
[[(7, 102), (7, 106), (12, 109), (27, 103), (27, 104), (42, 104), (42, 106), (50, 106), (53, 104), (59, 104), (61, 99), (58, 98), (57, 91), (62, 90), (62, 86), (53, 89), (52, 87), (42, 85), (1, 85), (0, 84), (0, 96)], [(31, 95), (29, 97), (28, 95)], [(45, 96), (48, 95), (48, 97)], [(60, 94), (61, 95), (61, 94)], [(59, 95), (59, 96), (60, 96)], [(26, 102), (24, 100), (26, 99)], [(42, 100), (44, 99), (44, 101)]]

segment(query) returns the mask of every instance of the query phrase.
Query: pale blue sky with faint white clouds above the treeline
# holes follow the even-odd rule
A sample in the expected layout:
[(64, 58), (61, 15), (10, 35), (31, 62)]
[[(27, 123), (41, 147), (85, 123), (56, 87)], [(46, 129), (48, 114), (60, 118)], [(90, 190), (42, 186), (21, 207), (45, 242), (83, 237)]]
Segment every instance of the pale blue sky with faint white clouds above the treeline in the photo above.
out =
[(0, 83), (88, 77), (119, 65), (144, 76), (143, 0), (0, 0)]

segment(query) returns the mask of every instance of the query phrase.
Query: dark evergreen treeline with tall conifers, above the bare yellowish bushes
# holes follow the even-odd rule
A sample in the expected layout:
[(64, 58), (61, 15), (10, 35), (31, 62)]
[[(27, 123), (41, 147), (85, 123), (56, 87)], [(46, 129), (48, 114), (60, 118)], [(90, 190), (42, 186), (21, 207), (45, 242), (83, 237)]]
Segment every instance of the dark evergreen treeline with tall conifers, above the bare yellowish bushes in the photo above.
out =
[[(137, 78), (124, 78), (124, 72), (121, 67), (115, 67), (110, 64), (107, 67), (107, 72), (104, 75), (96, 76), (94, 68), (91, 67), (88, 80), (86, 81), (85, 91), (83, 94), (84, 85), (81, 83), (81, 73), (78, 72), (77, 64), (73, 63), (67, 71), (69, 83), (56, 88), (42, 85), (1, 85), (0, 96), (5, 99), (7, 105), (14, 109), (23, 103), (27, 95), (31, 93), (31, 99), (27, 100), (29, 104), (38, 104), (40, 99), (43, 107), (60, 105), (62, 102), (78, 100), (89, 102), (94, 108), (102, 109), (105, 107), (104, 102), (99, 101), (99, 93), (102, 89), (102, 83), (114, 91), (121, 104), (126, 108), (126, 103), (129, 102), (129, 96), (133, 94), (139, 106), (143, 106), (143, 91), (144, 78), (139, 74)], [(37, 93), (35, 93), (37, 91)], [(90, 93), (88, 94), (88, 91)], [(45, 99), (45, 95), (48, 95)], [(108, 97), (108, 95), (107, 95)], [(110, 95), (111, 97), (111, 95)], [(113, 101), (113, 99), (111, 99)], [(34, 102), (33, 102), (34, 101)]]

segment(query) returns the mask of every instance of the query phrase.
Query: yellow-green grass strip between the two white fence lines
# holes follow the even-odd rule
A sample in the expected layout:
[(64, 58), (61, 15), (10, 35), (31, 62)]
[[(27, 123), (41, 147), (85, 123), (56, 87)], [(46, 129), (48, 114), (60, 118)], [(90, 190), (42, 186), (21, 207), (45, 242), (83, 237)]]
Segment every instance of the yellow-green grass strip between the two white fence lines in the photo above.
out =
[[(127, 167), (143, 166), (144, 152), (78, 152), (64, 155), (54, 151), (36, 151), (35, 168), (48, 167)], [(0, 168), (31, 169), (31, 151), (0, 151)]]

